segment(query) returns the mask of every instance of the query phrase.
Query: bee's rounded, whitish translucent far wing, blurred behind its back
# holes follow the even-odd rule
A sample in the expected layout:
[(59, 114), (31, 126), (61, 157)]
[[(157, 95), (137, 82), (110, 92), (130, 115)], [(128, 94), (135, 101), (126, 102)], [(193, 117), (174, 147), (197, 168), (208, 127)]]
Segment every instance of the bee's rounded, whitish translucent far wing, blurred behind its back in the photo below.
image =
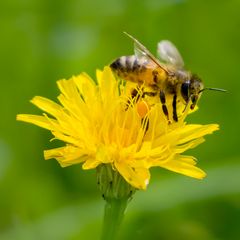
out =
[(162, 40), (161, 42), (159, 42), (157, 52), (159, 59), (164, 61), (165, 63), (173, 65), (178, 69), (182, 69), (184, 67), (184, 62), (181, 54), (174, 46), (174, 44), (170, 41)]

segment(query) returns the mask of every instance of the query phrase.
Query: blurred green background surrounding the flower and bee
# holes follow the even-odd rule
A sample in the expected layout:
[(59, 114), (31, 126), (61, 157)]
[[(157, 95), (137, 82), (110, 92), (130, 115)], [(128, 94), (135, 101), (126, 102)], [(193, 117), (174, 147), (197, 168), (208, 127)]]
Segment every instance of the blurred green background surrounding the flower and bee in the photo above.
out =
[(130, 203), (120, 239), (240, 239), (240, 1), (105, 0), (0, 2), (0, 239), (98, 239), (104, 201), (95, 171), (44, 161), (48, 131), (16, 122), (40, 113), (29, 100), (56, 99), (56, 80), (95, 76), (133, 53), (131, 33), (152, 52), (176, 44), (186, 67), (206, 86), (194, 123), (221, 130), (192, 150), (203, 181), (152, 169), (145, 192)]

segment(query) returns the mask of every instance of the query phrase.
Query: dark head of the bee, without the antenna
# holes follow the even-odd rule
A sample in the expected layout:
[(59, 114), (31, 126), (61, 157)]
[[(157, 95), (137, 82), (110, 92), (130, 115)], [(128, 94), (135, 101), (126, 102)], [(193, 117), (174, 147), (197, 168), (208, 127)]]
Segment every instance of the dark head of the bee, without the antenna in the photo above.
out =
[(186, 80), (181, 85), (181, 94), (188, 104), (191, 102), (190, 108), (194, 109), (200, 98), (201, 92), (203, 90), (203, 83), (197, 75), (191, 75), (190, 79)]

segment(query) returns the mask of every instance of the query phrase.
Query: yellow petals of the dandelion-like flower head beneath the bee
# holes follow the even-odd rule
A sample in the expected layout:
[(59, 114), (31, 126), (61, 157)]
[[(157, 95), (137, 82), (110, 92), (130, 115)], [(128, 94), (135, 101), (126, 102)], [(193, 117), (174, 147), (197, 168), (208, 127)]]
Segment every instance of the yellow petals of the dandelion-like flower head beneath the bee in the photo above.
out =
[(202, 143), (217, 124), (186, 124), (187, 114), (169, 124), (160, 103), (149, 107), (129, 100), (126, 85), (109, 67), (97, 71), (97, 83), (83, 73), (57, 85), (60, 104), (37, 96), (31, 102), (45, 112), (43, 116), (17, 115), (17, 120), (46, 128), (54, 139), (65, 142), (44, 151), (46, 160), (55, 158), (62, 167), (83, 163), (83, 169), (109, 164), (137, 189), (146, 189), (151, 167), (205, 177), (196, 159), (182, 153)]

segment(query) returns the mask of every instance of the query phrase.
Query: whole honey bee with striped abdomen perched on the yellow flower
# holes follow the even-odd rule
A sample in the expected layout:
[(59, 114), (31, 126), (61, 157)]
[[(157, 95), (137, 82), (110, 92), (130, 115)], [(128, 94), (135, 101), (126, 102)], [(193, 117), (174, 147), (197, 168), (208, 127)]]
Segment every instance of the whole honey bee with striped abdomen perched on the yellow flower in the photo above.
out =
[[(137, 83), (138, 88), (143, 89), (141, 97), (157, 96), (162, 104), (162, 111), (169, 120), (167, 100), (171, 101), (171, 118), (178, 121), (177, 103), (183, 103), (184, 110), (190, 104), (194, 109), (201, 93), (204, 90), (225, 91), (217, 88), (204, 88), (203, 82), (196, 75), (184, 69), (183, 59), (174, 46), (168, 40), (158, 43), (157, 59), (142, 43), (130, 34), (125, 34), (134, 42), (135, 55), (122, 56), (110, 64), (113, 72), (126, 81)], [(144, 87), (150, 89), (145, 91)], [(132, 90), (132, 98), (136, 97), (137, 88)]]

